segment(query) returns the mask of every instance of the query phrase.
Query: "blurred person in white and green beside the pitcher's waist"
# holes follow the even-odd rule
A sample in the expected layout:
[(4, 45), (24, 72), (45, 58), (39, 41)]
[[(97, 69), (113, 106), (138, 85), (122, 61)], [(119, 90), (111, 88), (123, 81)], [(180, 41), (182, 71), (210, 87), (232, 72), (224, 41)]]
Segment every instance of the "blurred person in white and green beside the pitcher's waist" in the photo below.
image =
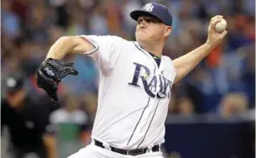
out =
[[(63, 107), (54, 111), (50, 120), (57, 127), (60, 157), (67, 157), (90, 142), (88, 116), (84, 111), (78, 109), (76, 98), (66, 96)], [(62, 151), (61, 148), (65, 148), (65, 151)]]

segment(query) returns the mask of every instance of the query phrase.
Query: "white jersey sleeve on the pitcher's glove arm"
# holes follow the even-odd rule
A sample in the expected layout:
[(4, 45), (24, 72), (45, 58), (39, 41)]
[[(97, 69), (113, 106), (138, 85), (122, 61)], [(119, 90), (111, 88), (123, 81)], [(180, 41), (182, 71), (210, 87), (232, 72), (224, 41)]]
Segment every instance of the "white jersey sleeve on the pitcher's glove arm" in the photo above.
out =
[(122, 43), (124, 39), (115, 35), (78, 35), (82, 39), (89, 41), (94, 45), (94, 50), (84, 52), (94, 58), (99, 64), (103, 73), (108, 73), (115, 67), (116, 61), (122, 52)]

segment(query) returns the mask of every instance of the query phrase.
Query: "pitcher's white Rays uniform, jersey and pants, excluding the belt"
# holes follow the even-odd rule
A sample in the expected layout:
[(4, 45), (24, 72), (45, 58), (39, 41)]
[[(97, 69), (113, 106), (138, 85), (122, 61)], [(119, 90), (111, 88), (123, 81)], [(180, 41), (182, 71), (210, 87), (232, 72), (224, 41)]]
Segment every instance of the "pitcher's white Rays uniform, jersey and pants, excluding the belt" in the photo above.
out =
[[(91, 138), (103, 142), (106, 148), (150, 148), (164, 143), (165, 120), (176, 75), (173, 61), (162, 56), (158, 68), (153, 56), (137, 42), (111, 35), (81, 37), (94, 44), (95, 50), (85, 54), (93, 57), (100, 69), (98, 109)], [(82, 149), (81, 156), (78, 152), (70, 158), (87, 157), (92, 148), (96, 148), (94, 152), (107, 150), (92, 146)], [(121, 156), (124, 155), (117, 157)]]

